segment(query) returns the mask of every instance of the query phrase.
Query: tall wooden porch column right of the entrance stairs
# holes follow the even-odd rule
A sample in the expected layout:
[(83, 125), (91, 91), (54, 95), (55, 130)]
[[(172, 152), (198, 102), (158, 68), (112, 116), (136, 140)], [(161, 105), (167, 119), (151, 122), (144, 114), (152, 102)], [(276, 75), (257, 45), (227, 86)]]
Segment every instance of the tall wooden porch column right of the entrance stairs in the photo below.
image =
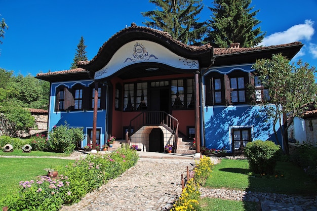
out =
[(196, 141), (196, 153), (201, 153), (199, 74), (200, 74), (199, 71), (195, 72), (195, 141)]

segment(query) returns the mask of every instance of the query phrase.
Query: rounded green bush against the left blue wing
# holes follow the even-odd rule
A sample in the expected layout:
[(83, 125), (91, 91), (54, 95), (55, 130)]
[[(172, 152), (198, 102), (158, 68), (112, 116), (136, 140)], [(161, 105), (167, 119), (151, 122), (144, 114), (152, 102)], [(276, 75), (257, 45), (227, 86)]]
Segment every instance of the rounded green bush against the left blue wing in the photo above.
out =
[(49, 134), (48, 146), (53, 152), (71, 153), (78, 141), (85, 138), (82, 128), (69, 128), (64, 125), (55, 126)]

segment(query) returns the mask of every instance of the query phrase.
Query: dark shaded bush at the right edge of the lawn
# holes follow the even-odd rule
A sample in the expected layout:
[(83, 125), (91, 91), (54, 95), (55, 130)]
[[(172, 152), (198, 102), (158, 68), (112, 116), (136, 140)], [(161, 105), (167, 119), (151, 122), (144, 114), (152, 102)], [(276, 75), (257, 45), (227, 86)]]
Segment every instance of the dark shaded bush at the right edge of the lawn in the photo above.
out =
[(311, 144), (297, 144), (291, 161), (301, 166), (313, 179), (317, 180), (317, 148)]

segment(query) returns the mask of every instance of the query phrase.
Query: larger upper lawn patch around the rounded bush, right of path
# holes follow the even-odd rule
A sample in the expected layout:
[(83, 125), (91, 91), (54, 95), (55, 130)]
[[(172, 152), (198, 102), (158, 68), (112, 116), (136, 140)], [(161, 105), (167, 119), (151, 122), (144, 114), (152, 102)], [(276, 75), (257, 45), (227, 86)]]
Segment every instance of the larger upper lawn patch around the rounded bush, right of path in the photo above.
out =
[(276, 174), (272, 176), (255, 175), (249, 170), (247, 160), (222, 159), (215, 165), (205, 186), (280, 194), (317, 193), (317, 183), (293, 163), (278, 162), (275, 171)]

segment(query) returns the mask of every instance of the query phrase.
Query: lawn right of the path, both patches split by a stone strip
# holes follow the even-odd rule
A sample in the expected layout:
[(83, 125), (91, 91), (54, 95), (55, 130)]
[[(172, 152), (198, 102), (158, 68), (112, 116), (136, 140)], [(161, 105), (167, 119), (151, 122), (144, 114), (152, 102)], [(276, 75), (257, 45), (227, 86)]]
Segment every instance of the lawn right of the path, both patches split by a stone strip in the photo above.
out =
[[(247, 160), (222, 159), (214, 165), (205, 187), (225, 188), (281, 194), (317, 194), (317, 182), (311, 180), (304, 171), (290, 162), (278, 162), (272, 176), (255, 175), (249, 170)], [(219, 198), (202, 198), (203, 211), (251, 211), (261, 210), (260, 203), (231, 201)]]

